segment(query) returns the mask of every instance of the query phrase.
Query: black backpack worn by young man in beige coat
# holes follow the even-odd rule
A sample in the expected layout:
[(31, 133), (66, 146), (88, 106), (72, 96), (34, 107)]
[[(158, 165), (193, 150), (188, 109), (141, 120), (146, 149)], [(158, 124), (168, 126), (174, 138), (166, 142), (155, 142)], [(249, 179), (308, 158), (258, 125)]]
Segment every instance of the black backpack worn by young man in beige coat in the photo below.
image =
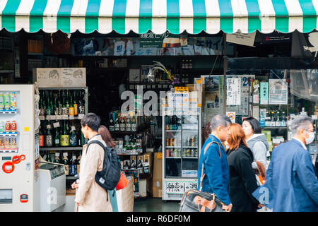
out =
[[(105, 150), (104, 163), (102, 165), (102, 171), (96, 172), (95, 181), (98, 183), (103, 189), (113, 190), (120, 179), (120, 163), (118, 160), (118, 156), (114, 148), (105, 147), (100, 141), (90, 141), (86, 148), (86, 153), (88, 152), (88, 147), (92, 143), (97, 143), (102, 146)], [(108, 196), (107, 196), (108, 201)]]

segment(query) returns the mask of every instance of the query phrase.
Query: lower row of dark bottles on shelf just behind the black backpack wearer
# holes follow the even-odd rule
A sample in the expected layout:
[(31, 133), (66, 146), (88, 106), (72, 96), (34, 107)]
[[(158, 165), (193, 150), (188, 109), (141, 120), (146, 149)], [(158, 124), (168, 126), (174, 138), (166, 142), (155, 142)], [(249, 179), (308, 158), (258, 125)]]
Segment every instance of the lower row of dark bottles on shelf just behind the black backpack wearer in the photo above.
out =
[(119, 140), (114, 141), (114, 143), (116, 144), (115, 150), (119, 155), (136, 155), (143, 152), (142, 138), (139, 135), (126, 135), (124, 141)]

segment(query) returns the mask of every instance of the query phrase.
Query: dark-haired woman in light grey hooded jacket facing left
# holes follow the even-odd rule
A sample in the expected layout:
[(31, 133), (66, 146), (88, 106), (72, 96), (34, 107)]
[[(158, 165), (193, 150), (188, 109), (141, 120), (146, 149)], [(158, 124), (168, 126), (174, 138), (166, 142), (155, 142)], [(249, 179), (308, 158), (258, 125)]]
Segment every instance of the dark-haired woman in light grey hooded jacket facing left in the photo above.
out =
[[(266, 136), (261, 133), (259, 121), (257, 121), (254, 117), (244, 119), (242, 122), (242, 128), (247, 138), (247, 146), (253, 152), (254, 161), (261, 162), (265, 169), (267, 169), (266, 154), (269, 150), (269, 143), (266, 140)], [(257, 169), (257, 165), (255, 163), (253, 164), (253, 169)]]

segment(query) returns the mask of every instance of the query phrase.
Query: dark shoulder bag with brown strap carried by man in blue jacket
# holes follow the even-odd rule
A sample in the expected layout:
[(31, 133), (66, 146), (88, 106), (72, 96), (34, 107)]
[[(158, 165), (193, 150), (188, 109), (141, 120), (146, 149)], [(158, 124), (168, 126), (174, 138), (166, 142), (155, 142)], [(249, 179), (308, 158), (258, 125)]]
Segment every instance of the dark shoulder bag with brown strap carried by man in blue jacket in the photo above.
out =
[[(211, 143), (218, 144), (221, 157), (222, 154), (220, 151), (220, 144), (215, 141)], [(211, 145), (211, 143), (208, 143), (208, 145), (206, 145), (206, 148), (204, 149), (204, 154), (206, 153), (206, 150), (208, 150), (208, 147)], [(179, 212), (228, 212), (228, 210), (223, 210), (222, 206), (225, 206), (225, 204), (222, 203), (216, 197), (216, 194), (210, 194), (208, 192), (201, 191), (202, 181), (204, 179), (204, 176), (206, 175), (203, 174), (203, 172), (204, 163), (202, 163), (199, 191), (195, 189), (190, 189), (183, 194), (182, 200), (180, 202)]]

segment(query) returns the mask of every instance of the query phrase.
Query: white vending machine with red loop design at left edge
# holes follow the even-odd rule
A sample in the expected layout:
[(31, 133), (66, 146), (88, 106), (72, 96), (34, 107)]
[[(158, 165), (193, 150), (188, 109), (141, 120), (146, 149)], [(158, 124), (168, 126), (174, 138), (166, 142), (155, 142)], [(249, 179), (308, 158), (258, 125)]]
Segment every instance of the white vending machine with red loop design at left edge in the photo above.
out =
[(38, 211), (34, 85), (0, 85), (0, 212)]

